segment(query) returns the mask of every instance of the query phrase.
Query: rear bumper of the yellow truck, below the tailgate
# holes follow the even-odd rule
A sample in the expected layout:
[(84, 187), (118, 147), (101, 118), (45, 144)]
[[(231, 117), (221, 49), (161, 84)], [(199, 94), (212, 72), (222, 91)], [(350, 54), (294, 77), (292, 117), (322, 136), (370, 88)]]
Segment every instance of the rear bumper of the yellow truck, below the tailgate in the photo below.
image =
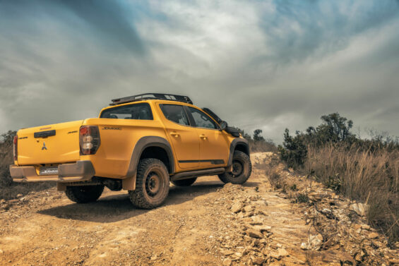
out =
[(38, 175), (33, 166), (16, 165), (10, 165), (10, 174), (14, 182), (74, 182), (90, 180), (95, 175), (95, 169), (90, 161), (78, 161), (73, 164), (59, 164), (58, 175)]

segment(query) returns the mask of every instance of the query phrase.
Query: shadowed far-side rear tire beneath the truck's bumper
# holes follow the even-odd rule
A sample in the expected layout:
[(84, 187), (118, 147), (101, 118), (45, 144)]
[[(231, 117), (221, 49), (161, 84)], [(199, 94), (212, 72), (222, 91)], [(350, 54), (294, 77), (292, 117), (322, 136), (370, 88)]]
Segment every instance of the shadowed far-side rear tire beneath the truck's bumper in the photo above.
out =
[(103, 185), (98, 186), (67, 186), (66, 196), (76, 203), (88, 203), (98, 200), (104, 191)]

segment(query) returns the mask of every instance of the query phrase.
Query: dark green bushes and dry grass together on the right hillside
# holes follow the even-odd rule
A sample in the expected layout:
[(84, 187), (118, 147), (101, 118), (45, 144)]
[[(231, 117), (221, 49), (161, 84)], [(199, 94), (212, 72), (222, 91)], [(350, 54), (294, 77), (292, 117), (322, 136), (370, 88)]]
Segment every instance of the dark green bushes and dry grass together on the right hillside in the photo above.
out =
[(304, 171), (335, 192), (367, 203), (369, 224), (399, 240), (399, 141), (386, 134), (364, 140), (340, 114), (294, 136), (286, 129), (278, 146), (289, 167)]

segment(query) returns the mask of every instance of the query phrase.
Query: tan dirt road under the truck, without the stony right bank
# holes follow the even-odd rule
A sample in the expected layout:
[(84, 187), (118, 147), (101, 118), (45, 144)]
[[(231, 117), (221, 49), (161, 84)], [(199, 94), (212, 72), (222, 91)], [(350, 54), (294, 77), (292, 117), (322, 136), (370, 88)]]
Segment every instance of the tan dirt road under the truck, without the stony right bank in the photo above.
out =
[[(84, 205), (54, 188), (13, 200), (0, 213), (0, 264), (306, 265), (300, 246), (314, 232), (302, 209), (271, 189), (256, 168), (260, 157), (252, 155), (244, 186), (203, 177), (172, 186), (155, 210), (137, 210), (125, 192), (111, 191)], [(320, 253), (313, 265), (340, 265), (337, 256), (345, 258)]]

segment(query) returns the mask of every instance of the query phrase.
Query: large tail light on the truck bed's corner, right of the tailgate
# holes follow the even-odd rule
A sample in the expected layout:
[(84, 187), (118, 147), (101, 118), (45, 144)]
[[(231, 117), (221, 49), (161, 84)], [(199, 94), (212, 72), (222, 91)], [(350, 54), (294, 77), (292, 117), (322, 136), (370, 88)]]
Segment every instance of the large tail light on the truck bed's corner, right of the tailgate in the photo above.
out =
[(97, 126), (81, 126), (79, 129), (81, 155), (94, 155), (100, 147), (100, 131)]

